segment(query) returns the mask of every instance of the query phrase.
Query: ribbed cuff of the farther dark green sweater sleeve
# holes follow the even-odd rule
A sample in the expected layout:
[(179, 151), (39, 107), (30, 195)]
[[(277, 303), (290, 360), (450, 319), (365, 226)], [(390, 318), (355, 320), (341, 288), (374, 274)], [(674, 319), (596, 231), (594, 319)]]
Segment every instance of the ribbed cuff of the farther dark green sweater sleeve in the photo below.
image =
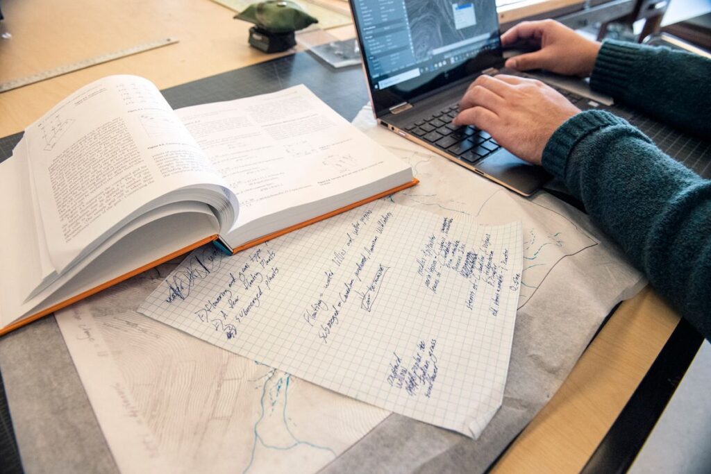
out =
[(606, 40), (602, 43), (590, 77), (590, 88), (612, 97), (622, 97), (627, 91), (630, 72), (639, 58), (641, 45), (625, 41)]

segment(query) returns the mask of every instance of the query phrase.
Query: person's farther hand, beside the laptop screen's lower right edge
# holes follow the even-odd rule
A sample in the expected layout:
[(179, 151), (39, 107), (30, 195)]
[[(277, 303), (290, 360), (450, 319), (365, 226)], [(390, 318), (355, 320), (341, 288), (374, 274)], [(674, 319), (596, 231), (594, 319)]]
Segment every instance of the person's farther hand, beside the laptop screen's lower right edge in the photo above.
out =
[(587, 77), (592, 74), (600, 43), (553, 20), (523, 21), (501, 35), (501, 45), (523, 44), (540, 48), (514, 56), (506, 67), (519, 71), (545, 69), (565, 75)]

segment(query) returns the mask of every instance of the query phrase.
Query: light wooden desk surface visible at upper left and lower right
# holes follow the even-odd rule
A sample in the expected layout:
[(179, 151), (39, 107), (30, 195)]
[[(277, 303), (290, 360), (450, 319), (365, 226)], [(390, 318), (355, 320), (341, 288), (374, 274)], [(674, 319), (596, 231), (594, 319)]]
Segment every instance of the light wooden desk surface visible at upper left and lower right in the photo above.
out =
[[(0, 82), (160, 38), (180, 42), (0, 94), (0, 136), (22, 131), (70, 92), (106, 75), (141, 75), (162, 89), (274, 57), (250, 48), (248, 25), (209, 0), (12, 1), (3, 9), (0, 32), (11, 38), (0, 39)], [(580, 470), (677, 323), (649, 289), (623, 303), (496, 472)]]

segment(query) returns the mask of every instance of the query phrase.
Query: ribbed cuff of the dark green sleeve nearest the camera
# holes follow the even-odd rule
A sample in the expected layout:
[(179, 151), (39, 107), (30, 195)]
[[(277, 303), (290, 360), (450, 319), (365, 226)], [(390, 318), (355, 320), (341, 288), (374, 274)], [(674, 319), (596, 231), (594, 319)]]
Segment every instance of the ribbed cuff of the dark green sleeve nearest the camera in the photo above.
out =
[(623, 119), (603, 110), (587, 110), (570, 117), (553, 132), (543, 149), (543, 168), (565, 181), (568, 158), (579, 141), (606, 126), (625, 123)]

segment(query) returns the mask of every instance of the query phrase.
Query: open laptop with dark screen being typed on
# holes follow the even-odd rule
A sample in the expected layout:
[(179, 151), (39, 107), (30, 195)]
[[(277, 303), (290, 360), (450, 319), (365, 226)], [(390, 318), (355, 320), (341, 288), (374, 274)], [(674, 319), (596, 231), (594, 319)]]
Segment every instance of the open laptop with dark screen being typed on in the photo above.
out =
[(486, 131), (451, 124), (469, 84), (503, 67), (495, 0), (350, 3), (378, 124), (521, 195), (550, 178)]

